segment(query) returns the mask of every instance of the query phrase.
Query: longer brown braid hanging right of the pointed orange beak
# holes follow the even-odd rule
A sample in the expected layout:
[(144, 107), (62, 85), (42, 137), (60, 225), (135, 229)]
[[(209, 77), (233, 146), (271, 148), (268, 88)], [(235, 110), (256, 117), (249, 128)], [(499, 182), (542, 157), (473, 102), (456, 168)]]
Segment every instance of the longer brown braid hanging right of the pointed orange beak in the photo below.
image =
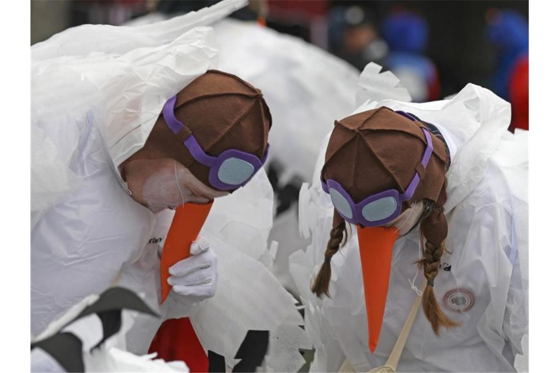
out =
[(440, 269), (441, 256), (445, 252), (444, 241), (447, 237), (447, 219), (442, 207), (445, 200), (444, 186), (436, 204), (433, 204), (432, 201), (426, 201), (432, 207), (430, 213), (420, 223), (420, 239), (423, 241), (425, 238), (426, 243), (424, 244), (423, 258), (417, 262), (418, 266), (424, 270), (424, 277), (428, 280), (426, 289), (422, 294), (422, 309), (424, 315), (432, 324), (436, 336), (439, 335), (440, 327), (451, 328), (461, 325), (443, 313), (433, 294), (433, 280)]

